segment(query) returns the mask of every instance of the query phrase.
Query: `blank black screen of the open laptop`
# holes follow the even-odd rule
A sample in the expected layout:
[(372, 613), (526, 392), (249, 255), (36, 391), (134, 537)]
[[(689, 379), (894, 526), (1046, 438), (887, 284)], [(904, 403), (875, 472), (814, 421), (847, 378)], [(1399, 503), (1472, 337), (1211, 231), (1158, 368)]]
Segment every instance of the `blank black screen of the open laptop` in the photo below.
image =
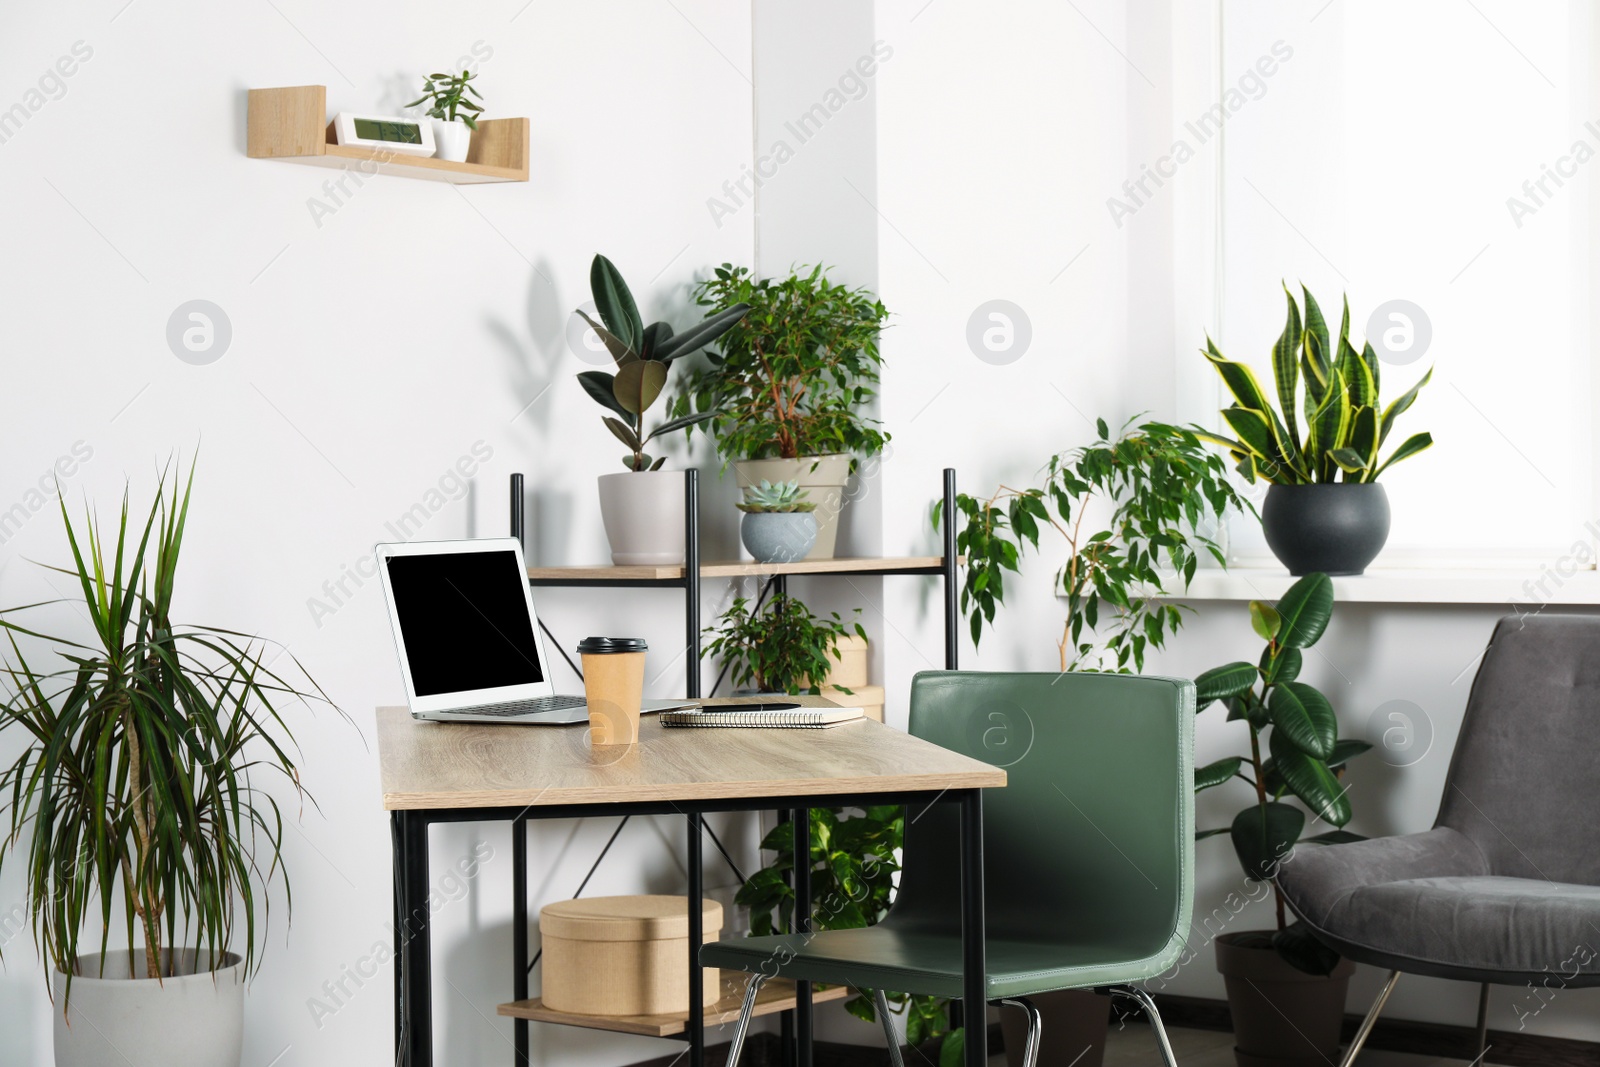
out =
[(544, 681), (525, 581), (504, 549), (389, 558), (418, 696)]

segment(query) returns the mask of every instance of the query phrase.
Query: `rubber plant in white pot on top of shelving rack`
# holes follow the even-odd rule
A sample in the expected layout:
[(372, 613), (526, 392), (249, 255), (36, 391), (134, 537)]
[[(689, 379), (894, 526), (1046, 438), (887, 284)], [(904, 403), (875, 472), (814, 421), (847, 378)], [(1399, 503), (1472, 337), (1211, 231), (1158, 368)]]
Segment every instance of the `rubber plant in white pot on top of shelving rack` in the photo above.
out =
[(653, 458), (645, 446), (706, 422), (715, 411), (670, 418), (651, 430), (645, 429), (645, 413), (661, 398), (672, 363), (728, 333), (749, 309), (744, 304), (723, 307), (677, 334), (664, 322), (646, 326), (627, 282), (605, 256), (595, 256), (589, 267), (589, 291), (600, 322), (582, 309), (578, 315), (605, 342), (616, 373), (582, 371), (578, 381), (608, 411), (602, 416), (605, 427), (627, 448), (622, 456), (627, 470), (600, 475), (600, 518), (611, 544), (611, 561), (618, 566), (682, 563), (683, 478), (662, 472), (667, 458)]

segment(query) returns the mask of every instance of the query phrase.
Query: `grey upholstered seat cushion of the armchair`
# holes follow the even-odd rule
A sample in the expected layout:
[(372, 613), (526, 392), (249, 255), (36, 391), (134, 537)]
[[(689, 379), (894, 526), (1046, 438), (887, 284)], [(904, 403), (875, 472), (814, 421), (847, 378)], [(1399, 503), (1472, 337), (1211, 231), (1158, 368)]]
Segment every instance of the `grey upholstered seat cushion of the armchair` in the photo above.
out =
[(1466, 981), (1600, 985), (1600, 886), (1499, 875), (1350, 889), (1314, 923), (1362, 963)]

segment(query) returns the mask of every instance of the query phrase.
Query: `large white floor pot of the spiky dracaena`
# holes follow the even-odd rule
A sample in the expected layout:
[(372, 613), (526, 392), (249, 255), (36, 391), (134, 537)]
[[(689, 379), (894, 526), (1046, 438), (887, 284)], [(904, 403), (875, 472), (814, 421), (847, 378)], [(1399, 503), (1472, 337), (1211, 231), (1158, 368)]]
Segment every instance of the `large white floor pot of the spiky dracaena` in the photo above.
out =
[[(171, 958), (162, 953), (163, 971)], [(144, 952), (134, 953), (144, 974)], [(238, 1067), (245, 1048), (245, 963), (229, 952), (216, 971), (195, 973), (195, 952), (181, 949), (178, 974), (128, 977), (128, 952), (78, 958), (72, 998), (54, 974), (56, 1067)], [(66, 1005), (66, 1014), (61, 1006)]]

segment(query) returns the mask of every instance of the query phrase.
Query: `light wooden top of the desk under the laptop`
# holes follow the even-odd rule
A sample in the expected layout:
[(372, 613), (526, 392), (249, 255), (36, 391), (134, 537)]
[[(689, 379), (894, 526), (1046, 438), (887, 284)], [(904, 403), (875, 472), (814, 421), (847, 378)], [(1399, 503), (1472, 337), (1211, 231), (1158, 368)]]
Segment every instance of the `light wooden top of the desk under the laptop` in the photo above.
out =
[[(790, 697), (824, 707), (822, 697)], [(706, 701), (738, 704), (739, 701)], [(582, 726), (426, 723), (378, 709), (389, 811), (742, 797), (826, 797), (1005, 785), (1005, 771), (864, 720), (834, 729), (664, 728), (592, 749)]]

